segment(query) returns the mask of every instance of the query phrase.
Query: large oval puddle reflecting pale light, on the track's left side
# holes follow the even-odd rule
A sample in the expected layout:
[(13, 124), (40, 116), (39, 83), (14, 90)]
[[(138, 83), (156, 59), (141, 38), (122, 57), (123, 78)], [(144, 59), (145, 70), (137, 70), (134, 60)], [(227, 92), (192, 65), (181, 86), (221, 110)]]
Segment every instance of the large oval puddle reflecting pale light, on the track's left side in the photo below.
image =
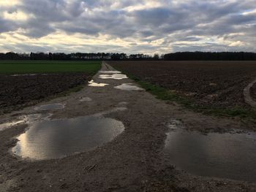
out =
[(17, 139), (12, 152), (36, 160), (61, 158), (92, 150), (110, 142), (124, 131), (121, 121), (86, 116), (59, 120), (42, 120), (29, 126)]

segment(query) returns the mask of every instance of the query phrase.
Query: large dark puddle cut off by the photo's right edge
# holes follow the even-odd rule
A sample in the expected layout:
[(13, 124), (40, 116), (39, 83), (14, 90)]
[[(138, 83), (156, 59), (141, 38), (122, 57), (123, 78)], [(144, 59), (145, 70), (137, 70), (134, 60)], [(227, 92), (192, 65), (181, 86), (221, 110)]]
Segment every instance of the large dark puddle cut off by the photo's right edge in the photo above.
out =
[(200, 176), (256, 182), (256, 133), (203, 135), (170, 124), (165, 154), (178, 169)]

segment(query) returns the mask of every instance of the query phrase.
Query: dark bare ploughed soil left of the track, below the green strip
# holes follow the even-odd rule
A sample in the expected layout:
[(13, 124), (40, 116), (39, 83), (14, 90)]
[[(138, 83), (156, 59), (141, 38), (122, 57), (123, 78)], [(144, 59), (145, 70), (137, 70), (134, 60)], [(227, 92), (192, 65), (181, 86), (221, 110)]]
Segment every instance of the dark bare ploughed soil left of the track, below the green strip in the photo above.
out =
[(84, 84), (89, 78), (84, 73), (0, 75), (0, 113), (36, 104), (49, 96)]

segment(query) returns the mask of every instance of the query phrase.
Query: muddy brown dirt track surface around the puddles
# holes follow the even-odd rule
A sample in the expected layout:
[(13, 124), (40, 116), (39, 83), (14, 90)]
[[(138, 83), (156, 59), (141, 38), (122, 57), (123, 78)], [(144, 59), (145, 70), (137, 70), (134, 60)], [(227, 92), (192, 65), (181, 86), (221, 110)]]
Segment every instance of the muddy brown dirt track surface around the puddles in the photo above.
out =
[[(115, 70), (107, 64), (102, 70)], [(181, 120), (187, 130), (202, 132), (245, 129), (236, 120), (212, 118), (166, 104), (146, 91), (122, 91), (114, 86), (132, 80), (100, 79), (105, 87), (87, 86), (78, 93), (48, 103), (66, 104), (51, 118), (73, 118), (103, 112), (124, 123), (125, 130), (95, 150), (46, 161), (21, 159), (10, 153), (26, 125), (0, 132), (0, 191), (255, 191), (253, 183), (197, 177), (178, 171), (165, 158), (167, 124)], [(89, 97), (91, 101), (79, 101)], [(116, 111), (116, 107), (127, 110)], [(111, 110), (113, 112), (111, 112)], [(105, 112), (110, 111), (110, 112)], [(104, 113), (105, 112), (105, 113)], [(35, 113), (34, 107), (1, 115), (1, 122)], [(43, 113), (43, 112), (42, 112)], [(45, 112), (46, 113), (46, 112)]]

